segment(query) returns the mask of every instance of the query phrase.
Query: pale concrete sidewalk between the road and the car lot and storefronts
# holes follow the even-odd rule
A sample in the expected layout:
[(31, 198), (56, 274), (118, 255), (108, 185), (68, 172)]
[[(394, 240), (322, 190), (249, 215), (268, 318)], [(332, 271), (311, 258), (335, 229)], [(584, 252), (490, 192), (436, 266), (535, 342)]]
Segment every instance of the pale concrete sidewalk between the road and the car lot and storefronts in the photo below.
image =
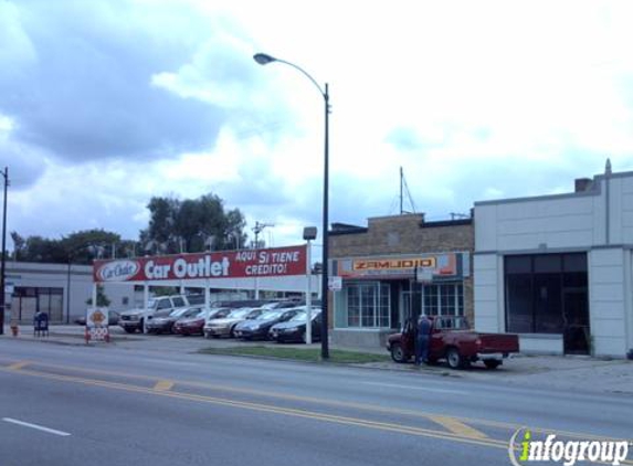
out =
[[(38, 343), (57, 343), (85, 346), (84, 327), (77, 325), (51, 326), (49, 337), (34, 337), (33, 328), (21, 326), (18, 337), (11, 336), (11, 329), (6, 326), (2, 339), (28, 340)], [(119, 349), (143, 349), (150, 351), (175, 351), (193, 353), (202, 348), (233, 348), (242, 346), (274, 346), (277, 343), (257, 341), (244, 342), (233, 339), (204, 339), (200, 337), (155, 336), (126, 333), (119, 327), (110, 327), (112, 342), (91, 342), (94, 347), (112, 347)], [(315, 343), (314, 347), (318, 347)], [(284, 345), (286, 348), (305, 348), (305, 345)], [(359, 352), (387, 354), (382, 348), (349, 348), (331, 346), (333, 349), (344, 349)], [(616, 359), (603, 360), (590, 357), (573, 356), (518, 356), (510, 358), (496, 370), (487, 370), (481, 364), (474, 364), (468, 370), (453, 371), (444, 366), (415, 368), (413, 364), (395, 362), (372, 362), (361, 364), (365, 368), (397, 370), (421, 373), (433, 373), (453, 378), (463, 378), (481, 382), (503, 382), (524, 388), (546, 388), (569, 390), (574, 392), (619, 393), (633, 395), (633, 361)]]

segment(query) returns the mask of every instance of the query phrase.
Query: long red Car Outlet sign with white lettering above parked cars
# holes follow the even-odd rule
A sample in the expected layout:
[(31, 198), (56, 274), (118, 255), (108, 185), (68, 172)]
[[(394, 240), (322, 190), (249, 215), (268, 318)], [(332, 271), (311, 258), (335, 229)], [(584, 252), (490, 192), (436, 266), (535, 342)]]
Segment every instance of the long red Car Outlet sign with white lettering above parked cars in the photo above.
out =
[(306, 246), (95, 261), (95, 282), (245, 278), (306, 274)]

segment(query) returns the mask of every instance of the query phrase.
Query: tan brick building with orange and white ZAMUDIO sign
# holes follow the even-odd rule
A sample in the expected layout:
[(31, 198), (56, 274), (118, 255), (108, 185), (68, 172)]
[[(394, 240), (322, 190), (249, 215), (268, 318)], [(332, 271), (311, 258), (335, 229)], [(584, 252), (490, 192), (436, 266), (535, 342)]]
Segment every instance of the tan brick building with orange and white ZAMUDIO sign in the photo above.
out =
[(473, 319), (472, 219), (381, 216), (368, 226), (335, 223), (329, 239), (331, 276), (342, 283), (330, 293), (336, 343), (382, 346), (421, 313)]

